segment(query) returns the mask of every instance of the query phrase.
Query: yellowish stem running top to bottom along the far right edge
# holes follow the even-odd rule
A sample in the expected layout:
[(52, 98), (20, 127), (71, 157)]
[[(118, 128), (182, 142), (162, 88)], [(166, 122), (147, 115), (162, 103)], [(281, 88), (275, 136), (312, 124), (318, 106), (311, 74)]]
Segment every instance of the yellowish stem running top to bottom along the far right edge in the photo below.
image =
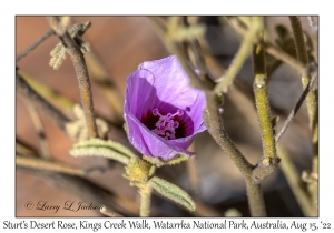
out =
[[(291, 26), (294, 33), (294, 40), (296, 45), (296, 52), (298, 60), (308, 65), (308, 57), (306, 44), (304, 40), (303, 28), (301, 23), (299, 17), (289, 17)], [(303, 89), (307, 88), (307, 84), (311, 82), (311, 74), (308, 72), (303, 72), (302, 74), (302, 83)], [(318, 112), (317, 112), (317, 91), (312, 89), (306, 95), (306, 107), (308, 112), (310, 128), (312, 132), (312, 143), (313, 143), (313, 164), (312, 172), (318, 173)], [(313, 204), (313, 215), (318, 215), (318, 183), (312, 182), (308, 185), (311, 192), (311, 199)]]

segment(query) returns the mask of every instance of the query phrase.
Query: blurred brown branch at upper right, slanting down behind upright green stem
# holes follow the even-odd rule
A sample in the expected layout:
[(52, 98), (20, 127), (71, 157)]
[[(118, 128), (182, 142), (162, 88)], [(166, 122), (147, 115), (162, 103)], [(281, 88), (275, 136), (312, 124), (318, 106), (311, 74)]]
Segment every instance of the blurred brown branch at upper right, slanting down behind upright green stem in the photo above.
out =
[[(242, 36), (245, 36), (247, 33), (247, 27), (242, 24), (237, 18), (232, 17), (228, 18), (230, 26)], [(273, 55), (274, 58), (283, 61), (284, 63), (288, 64), (289, 67), (292, 67), (293, 69), (297, 70), (298, 72), (303, 73), (306, 70), (306, 65), (304, 65), (302, 62), (299, 62), (298, 60), (294, 59), (293, 57), (288, 55), (287, 53), (285, 53), (283, 50), (278, 49), (277, 47), (275, 47), (274, 44), (272, 44), (271, 42), (267, 41), (263, 41), (263, 40), (256, 40), (256, 42), (259, 42), (261, 45), (263, 45), (266, 50), (267, 53), (269, 53), (271, 55)]]

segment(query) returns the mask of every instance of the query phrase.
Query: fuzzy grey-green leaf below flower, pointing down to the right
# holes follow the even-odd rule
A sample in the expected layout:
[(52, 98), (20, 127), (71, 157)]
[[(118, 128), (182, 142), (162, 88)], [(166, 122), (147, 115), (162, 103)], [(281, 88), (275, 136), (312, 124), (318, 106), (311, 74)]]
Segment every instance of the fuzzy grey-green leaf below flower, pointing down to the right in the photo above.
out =
[(148, 184), (158, 191), (163, 196), (166, 196), (167, 199), (173, 200), (176, 203), (181, 204), (189, 211), (196, 210), (196, 204), (193, 201), (193, 199), (180, 188), (176, 186), (173, 183), (169, 183), (168, 181), (154, 176), (148, 181)]

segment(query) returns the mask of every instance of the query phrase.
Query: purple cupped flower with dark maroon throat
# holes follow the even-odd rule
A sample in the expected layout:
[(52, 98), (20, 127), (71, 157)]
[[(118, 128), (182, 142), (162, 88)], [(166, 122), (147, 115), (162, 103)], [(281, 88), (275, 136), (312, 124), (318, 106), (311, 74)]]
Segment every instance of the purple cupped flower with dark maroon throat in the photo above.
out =
[(147, 61), (127, 80), (125, 120), (128, 138), (143, 154), (169, 161), (187, 151), (206, 130), (205, 93), (189, 87), (175, 55)]

